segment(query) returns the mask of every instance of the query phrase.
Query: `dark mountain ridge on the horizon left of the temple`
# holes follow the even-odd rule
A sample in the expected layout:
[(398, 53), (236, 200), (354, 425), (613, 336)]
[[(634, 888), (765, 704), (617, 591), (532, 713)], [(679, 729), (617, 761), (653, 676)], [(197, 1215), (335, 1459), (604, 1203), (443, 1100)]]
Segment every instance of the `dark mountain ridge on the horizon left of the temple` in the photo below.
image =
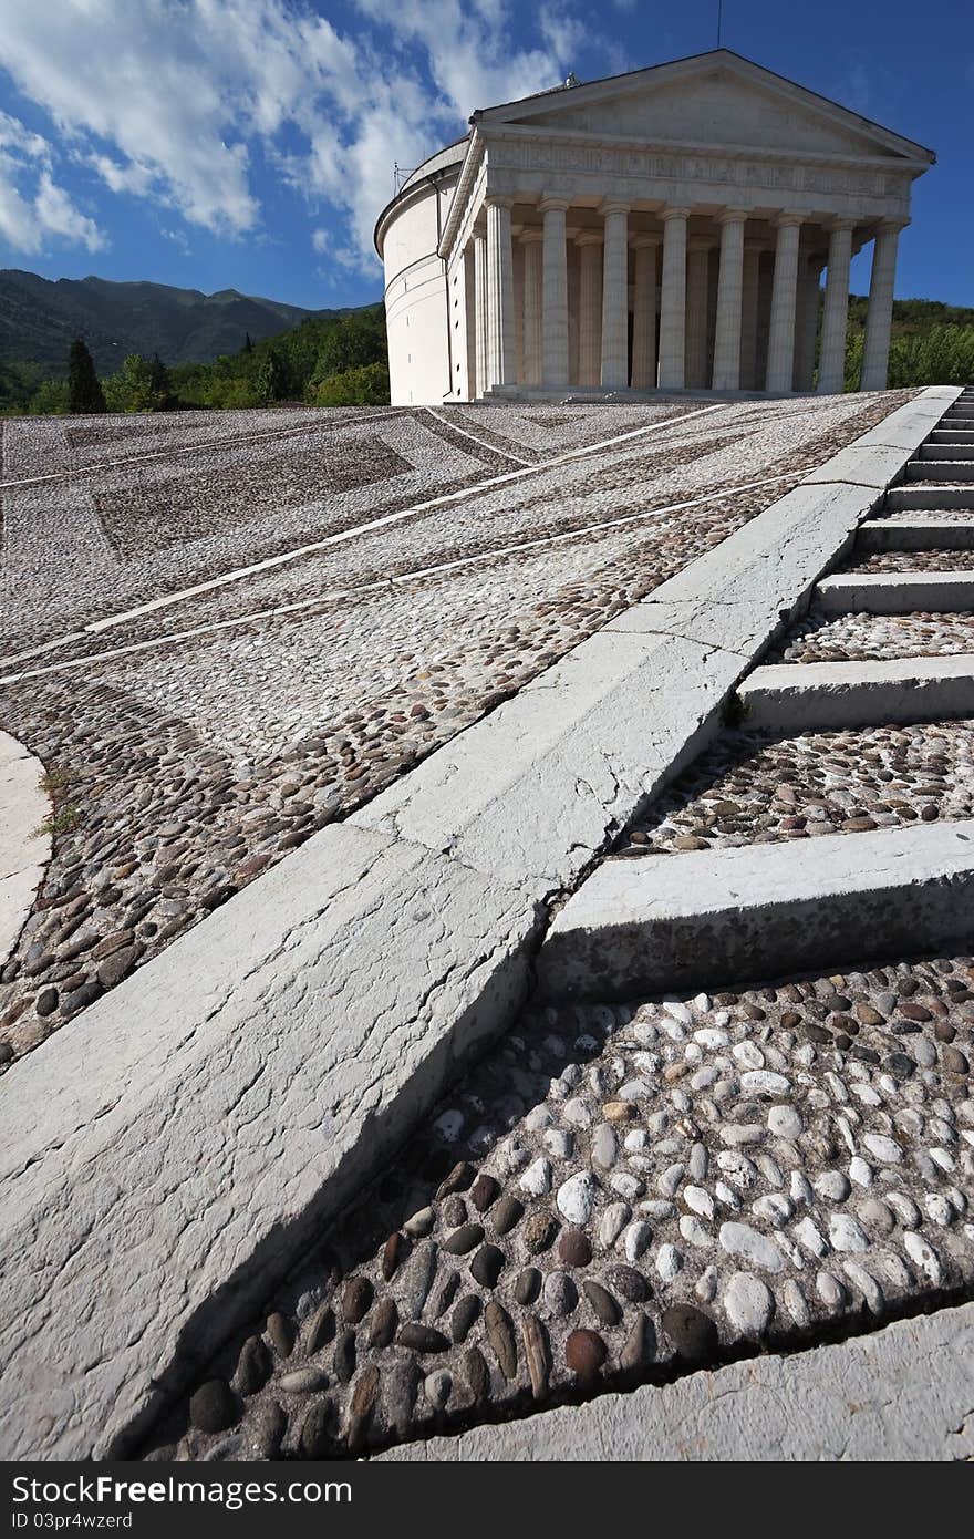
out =
[(151, 280), (42, 279), (22, 268), (0, 269), (0, 362), (32, 362), (63, 374), (68, 349), (83, 337), (100, 374), (118, 369), (129, 352), (163, 363), (209, 363), (252, 342), (289, 331), (302, 320), (345, 315), (306, 309), (238, 289), (183, 289)]

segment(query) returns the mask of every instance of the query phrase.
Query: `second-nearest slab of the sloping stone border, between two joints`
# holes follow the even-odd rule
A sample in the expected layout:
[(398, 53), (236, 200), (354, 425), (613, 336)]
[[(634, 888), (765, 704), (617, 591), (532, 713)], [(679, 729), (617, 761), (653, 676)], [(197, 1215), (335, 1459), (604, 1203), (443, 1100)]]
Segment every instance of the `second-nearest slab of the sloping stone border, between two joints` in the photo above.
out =
[(700, 751), (745, 668), (683, 637), (602, 631), (351, 822), (545, 897)]

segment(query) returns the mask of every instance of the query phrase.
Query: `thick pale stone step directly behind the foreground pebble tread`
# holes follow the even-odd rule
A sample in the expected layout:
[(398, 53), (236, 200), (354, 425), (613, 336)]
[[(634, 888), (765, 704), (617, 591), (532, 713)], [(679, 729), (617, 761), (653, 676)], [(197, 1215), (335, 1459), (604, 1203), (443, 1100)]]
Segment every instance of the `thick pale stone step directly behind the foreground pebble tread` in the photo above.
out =
[(974, 822), (605, 860), (537, 960), (549, 999), (635, 999), (969, 946)]

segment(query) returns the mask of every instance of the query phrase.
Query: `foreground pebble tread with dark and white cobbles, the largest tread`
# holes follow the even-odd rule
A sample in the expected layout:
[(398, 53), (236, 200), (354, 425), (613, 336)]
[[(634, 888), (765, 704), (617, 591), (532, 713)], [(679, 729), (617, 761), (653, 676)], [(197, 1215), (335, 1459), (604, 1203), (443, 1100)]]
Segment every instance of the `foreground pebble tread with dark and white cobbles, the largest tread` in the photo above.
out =
[(525, 1016), (152, 1457), (360, 1454), (969, 1296), (972, 982), (937, 957)]

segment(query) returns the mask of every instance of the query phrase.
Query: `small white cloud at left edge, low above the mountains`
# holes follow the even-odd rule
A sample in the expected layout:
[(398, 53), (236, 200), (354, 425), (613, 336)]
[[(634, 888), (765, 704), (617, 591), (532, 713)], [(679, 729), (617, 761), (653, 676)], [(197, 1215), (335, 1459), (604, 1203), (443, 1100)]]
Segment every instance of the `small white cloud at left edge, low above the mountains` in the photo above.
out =
[(9, 112), (0, 112), (0, 237), (14, 251), (43, 251), (51, 239), (102, 251), (106, 237), (54, 180), (54, 151)]

